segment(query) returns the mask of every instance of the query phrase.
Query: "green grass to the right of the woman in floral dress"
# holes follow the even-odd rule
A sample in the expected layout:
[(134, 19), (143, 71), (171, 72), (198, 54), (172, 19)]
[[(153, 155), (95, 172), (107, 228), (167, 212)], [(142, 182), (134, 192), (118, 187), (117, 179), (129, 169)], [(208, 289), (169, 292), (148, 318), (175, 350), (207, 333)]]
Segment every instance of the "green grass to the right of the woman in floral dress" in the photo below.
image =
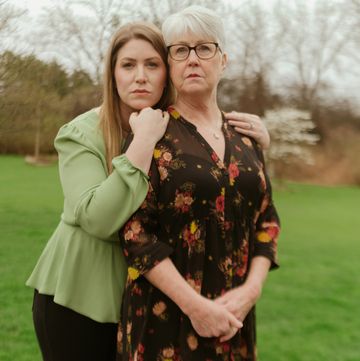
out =
[(360, 189), (276, 192), (281, 268), (258, 307), (262, 361), (360, 360)]

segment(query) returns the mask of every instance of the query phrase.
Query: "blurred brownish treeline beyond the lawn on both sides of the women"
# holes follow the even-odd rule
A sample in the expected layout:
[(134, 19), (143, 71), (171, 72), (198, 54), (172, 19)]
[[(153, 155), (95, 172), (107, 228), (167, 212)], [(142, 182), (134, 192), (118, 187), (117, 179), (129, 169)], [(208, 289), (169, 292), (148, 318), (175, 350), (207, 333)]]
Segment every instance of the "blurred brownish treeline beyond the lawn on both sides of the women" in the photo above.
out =
[[(65, 71), (56, 61), (47, 63), (34, 55), (6, 51), (0, 55), (0, 72), (2, 154), (37, 157), (54, 153), (53, 140), (59, 127), (101, 104), (101, 84), (84, 70)], [(289, 106), (306, 109), (315, 123), (314, 131), (320, 135), (322, 151), (334, 161), (345, 157), (349, 167), (355, 161), (360, 118), (345, 100), (313, 100), (304, 104), (300, 98), (275, 94), (261, 74), (224, 79), (219, 87), (219, 100), (224, 110), (255, 113), (264, 118), (270, 109)], [(276, 137), (273, 139), (275, 143)], [(291, 166), (280, 164), (278, 169), (280, 175), (286, 175)]]

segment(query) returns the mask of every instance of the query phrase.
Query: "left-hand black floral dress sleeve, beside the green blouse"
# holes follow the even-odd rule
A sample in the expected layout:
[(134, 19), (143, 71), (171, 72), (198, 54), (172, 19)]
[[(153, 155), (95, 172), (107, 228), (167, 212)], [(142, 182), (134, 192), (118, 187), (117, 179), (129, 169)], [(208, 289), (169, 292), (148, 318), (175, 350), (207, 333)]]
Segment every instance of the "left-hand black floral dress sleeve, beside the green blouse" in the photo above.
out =
[(148, 272), (173, 252), (173, 248), (161, 236), (163, 232), (159, 227), (156, 194), (158, 186), (159, 172), (153, 160), (146, 199), (119, 232), (130, 281)]

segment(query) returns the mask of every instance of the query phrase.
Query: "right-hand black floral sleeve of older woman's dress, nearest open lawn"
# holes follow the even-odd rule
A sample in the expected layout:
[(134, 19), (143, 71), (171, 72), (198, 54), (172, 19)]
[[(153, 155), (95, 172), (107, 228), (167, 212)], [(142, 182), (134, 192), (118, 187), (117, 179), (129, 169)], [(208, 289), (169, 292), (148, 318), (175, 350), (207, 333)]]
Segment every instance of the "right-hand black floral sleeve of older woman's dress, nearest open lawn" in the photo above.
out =
[(265, 189), (255, 226), (254, 257), (264, 256), (271, 261), (271, 269), (277, 268), (277, 240), (280, 233), (280, 219), (272, 199), (272, 187), (266, 174), (264, 157), (258, 148), (261, 161), (261, 178)]

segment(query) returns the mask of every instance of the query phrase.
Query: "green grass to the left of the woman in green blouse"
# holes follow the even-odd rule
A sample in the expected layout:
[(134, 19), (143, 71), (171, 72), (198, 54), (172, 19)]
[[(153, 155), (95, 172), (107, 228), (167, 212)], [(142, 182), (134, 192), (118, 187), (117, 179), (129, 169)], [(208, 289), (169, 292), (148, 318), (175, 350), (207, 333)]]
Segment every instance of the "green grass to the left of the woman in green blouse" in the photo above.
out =
[(0, 360), (37, 361), (33, 292), (24, 283), (61, 212), (57, 167), (1, 156), (0, 170)]

